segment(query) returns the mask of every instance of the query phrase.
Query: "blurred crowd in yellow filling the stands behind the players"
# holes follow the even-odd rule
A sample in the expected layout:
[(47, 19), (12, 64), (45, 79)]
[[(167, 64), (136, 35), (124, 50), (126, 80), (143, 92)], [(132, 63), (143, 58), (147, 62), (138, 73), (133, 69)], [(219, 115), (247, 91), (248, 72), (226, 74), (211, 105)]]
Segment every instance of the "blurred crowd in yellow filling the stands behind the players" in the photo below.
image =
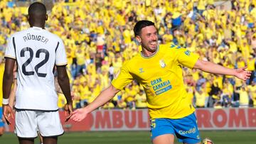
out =
[[(7, 38), (29, 27), (26, 15), (8, 3), (0, 1), (0, 57)], [(65, 43), (75, 108), (90, 104), (109, 86), (122, 63), (141, 50), (132, 28), (142, 19), (156, 23), (160, 44), (174, 42), (203, 60), (230, 68), (247, 66), (252, 72), (242, 82), (184, 67), (184, 84), (194, 106), (256, 107), (255, 6), (255, 0), (55, 0), (46, 29)], [(58, 106), (64, 104), (59, 94)], [(102, 109), (145, 107), (146, 94), (134, 81)]]

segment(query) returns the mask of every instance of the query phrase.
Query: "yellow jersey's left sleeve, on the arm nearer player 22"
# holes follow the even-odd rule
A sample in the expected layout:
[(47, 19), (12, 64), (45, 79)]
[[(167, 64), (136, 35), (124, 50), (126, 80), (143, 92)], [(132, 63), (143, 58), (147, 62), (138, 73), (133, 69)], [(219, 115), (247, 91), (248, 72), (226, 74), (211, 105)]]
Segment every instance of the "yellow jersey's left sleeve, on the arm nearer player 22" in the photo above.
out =
[(124, 87), (131, 83), (132, 80), (132, 74), (130, 74), (127, 66), (124, 65), (118, 76), (112, 80), (112, 85), (117, 89), (124, 89)]

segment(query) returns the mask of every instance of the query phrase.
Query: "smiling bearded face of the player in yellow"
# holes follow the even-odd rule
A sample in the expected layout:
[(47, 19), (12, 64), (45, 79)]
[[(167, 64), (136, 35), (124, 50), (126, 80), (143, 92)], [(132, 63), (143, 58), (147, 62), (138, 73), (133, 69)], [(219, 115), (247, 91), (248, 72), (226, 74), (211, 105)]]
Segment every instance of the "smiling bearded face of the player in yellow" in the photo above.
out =
[(137, 40), (141, 43), (142, 48), (148, 52), (155, 52), (157, 48), (157, 31), (154, 26), (146, 26), (142, 28), (141, 34), (137, 36)]

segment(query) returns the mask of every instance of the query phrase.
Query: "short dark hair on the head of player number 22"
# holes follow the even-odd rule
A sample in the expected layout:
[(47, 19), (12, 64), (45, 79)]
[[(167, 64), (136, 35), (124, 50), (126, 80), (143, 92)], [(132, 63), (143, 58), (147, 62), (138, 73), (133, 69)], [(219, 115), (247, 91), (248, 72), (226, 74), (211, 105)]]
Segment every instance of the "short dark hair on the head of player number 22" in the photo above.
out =
[(28, 8), (28, 15), (41, 16), (46, 15), (46, 6), (40, 2), (34, 2)]

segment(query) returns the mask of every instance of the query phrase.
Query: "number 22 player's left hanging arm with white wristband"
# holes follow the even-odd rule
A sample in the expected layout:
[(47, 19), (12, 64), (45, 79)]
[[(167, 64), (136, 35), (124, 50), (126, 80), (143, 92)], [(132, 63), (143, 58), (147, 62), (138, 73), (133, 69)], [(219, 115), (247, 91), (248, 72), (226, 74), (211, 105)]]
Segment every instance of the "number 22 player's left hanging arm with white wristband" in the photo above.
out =
[(14, 114), (12, 112), (11, 106), (9, 106), (9, 96), (11, 93), (11, 84), (14, 80), (13, 70), (14, 63), (16, 60), (11, 58), (6, 58), (5, 67), (4, 67), (4, 79), (3, 79), (3, 114), (6, 122), (8, 124), (10, 118), (14, 118)]

